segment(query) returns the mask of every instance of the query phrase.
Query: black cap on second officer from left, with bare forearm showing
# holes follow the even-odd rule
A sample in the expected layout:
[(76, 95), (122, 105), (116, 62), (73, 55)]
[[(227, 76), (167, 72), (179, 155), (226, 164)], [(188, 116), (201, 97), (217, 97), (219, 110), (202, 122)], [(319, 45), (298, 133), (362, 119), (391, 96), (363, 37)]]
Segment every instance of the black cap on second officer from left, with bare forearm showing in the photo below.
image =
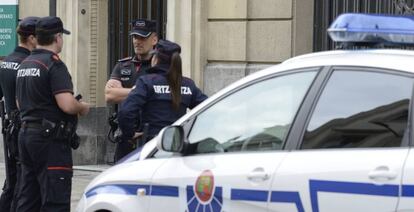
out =
[(70, 32), (63, 28), (63, 22), (59, 17), (46, 16), (40, 18), (36, 24), (36, 34), (50, 35), (56, 33), (70, 34)]

